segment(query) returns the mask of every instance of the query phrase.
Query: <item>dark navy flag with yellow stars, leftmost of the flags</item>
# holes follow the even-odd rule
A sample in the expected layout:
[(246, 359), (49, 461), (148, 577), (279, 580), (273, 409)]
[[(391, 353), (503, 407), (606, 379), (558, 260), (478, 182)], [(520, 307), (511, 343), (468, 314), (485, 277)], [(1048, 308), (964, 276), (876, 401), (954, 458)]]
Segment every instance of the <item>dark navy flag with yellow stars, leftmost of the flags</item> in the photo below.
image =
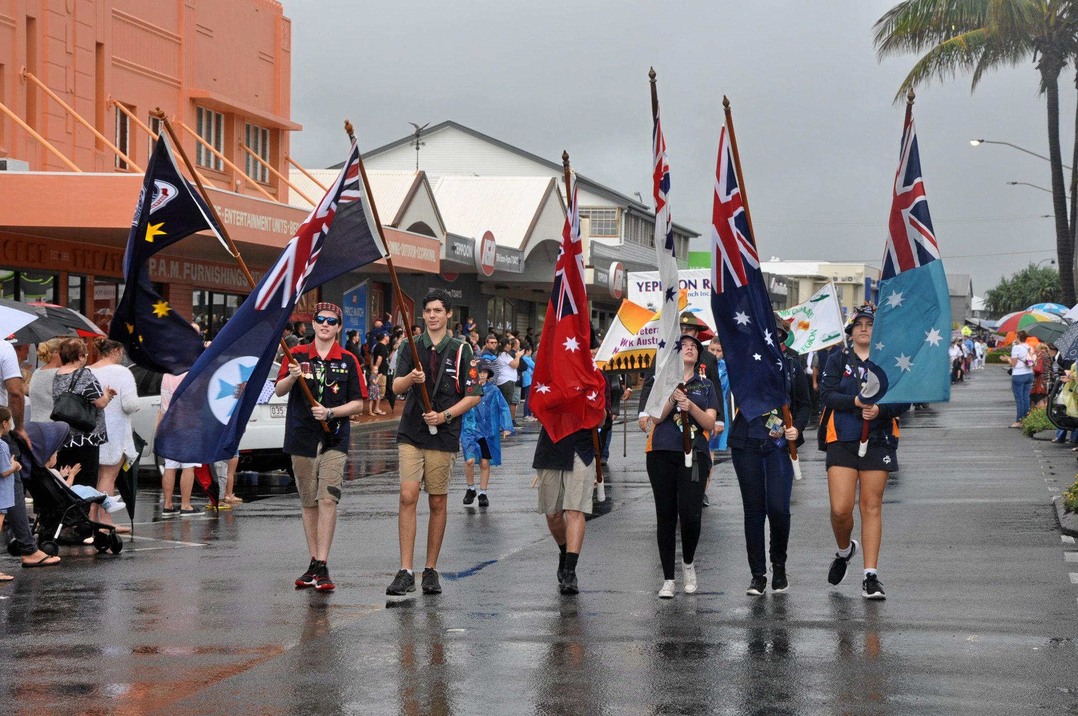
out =
[(135, 207), (124, 254), (124, 294), (109, 326), (109, 338), (123, 343), (132, 360), (158, 373), (186, 372), (202, 355), (203, 342), (190, 320), (153, 288), (148, 263), (157, 251), (199, 231), (213, 232), (224, 244), (209, 207), (180, 175), (162, 134)]

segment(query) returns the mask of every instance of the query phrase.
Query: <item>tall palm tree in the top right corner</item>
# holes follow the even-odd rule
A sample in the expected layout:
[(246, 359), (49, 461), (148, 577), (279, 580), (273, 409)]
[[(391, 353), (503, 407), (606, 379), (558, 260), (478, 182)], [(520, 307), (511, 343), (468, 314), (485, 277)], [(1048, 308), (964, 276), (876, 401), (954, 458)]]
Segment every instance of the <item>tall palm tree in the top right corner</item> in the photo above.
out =
[[(971, 72), (972, 92), (990, 70), (1031, 59), (1035, 64), (1048, 105), (1048, 156), (1061, 298), (1068, 306), (1074, 305), (1075, 233), (1067, 222), (1060, 151), (1059, 79), (1078, 56), (1078, 0), (903, 0), (872, 29), (881, 60), (889, 55), (924, 53), (902, 81), (896, 102), (908, 88), (932, 79), (942, 82), (958, 72)], [(1078, 156), (1078, 137), (1075, 152)], [(1072, 217), (1072, 222), (1075, 219)]]

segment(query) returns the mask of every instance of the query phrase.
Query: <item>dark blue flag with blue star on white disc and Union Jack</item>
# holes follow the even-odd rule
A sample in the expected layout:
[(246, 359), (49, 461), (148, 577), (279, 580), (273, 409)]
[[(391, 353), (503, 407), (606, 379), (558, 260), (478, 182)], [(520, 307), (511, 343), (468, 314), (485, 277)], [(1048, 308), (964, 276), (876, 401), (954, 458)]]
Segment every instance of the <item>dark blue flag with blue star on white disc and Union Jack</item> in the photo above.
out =
[(353, 143), (326, 196), (180, 384), (162, 418), (154, 452), (182, 463), (235, 455), (296, 300), (388, 256)]

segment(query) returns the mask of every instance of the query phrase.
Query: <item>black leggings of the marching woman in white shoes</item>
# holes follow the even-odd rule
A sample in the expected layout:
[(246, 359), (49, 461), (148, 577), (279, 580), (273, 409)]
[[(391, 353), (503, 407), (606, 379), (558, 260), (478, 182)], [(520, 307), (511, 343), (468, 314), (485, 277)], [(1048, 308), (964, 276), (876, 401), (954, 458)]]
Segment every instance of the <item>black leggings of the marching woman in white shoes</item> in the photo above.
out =
[[(677, 547), (677, 523), (681, 521), (681, 557), (692, 564), (700, 541), (700, 518), (704, 508), (704, 487), (711, 460), (707, 453), (697, 452), (694, 467), (685, 466), (685, 453), (653, 450), (648, 453), (648, 479), (655, 498), (655, 538), (659, 559), (663, 563), (663, 579), (674, 579), (674, 551)], [(692, 480), (695, 473), (695, 482)]]

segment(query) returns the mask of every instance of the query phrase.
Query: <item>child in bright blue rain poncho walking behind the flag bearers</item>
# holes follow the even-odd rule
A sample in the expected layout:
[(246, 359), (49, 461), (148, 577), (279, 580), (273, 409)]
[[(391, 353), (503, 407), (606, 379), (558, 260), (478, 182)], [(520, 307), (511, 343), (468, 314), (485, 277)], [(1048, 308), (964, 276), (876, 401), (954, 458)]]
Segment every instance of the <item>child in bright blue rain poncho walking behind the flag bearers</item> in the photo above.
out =
[[(472, 377), (485, 386), (494, 375), (492, 361), (480, 359), (471, 368)], [(501, 439), (513, 435), (513, 416), (500, 390), (483, 390), (483, 399), (465, 413), (460, 430), (460, 448), (465, 453), (465, 505), (475, 501), (475, 460), (479, 460), (479, 506), (487, 507), (486, 486), (490, 466), (501, 465)]]

